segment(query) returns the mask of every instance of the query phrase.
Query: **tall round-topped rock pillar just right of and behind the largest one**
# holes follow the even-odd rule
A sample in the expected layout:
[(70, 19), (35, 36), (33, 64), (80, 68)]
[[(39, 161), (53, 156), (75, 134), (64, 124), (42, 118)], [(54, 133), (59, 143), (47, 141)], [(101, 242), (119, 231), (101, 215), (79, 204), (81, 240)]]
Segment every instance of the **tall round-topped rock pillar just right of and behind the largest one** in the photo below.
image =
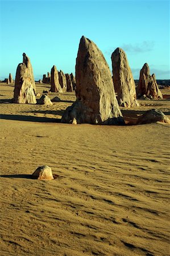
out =
[(115, 49), (111, 55), (111, 61), (114, 89), (118, 93), (117, 100), (119, 106), (139, 106), (136, 100), (135, 81), (123, 49)]

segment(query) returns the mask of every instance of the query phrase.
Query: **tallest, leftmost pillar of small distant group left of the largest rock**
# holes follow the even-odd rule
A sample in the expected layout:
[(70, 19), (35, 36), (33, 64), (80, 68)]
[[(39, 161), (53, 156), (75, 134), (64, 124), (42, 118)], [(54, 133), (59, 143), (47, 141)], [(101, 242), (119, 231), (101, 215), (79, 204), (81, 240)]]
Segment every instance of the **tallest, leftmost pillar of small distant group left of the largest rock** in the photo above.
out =
[(61, 85), (59, 83), (59, 73), (55, 65), (51, 69), (51, 92), (63, 92)]

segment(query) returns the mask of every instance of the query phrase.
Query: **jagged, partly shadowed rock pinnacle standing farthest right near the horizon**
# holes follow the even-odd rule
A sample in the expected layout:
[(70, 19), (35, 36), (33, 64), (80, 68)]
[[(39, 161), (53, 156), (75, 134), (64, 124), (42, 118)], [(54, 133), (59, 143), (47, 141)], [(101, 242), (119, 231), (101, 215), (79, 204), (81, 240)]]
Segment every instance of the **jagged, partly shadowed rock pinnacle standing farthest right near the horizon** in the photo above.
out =
[(155, 75), (150, 75), (150, 68), (147, 63), (145, 63), (143, 68), (140, 70), (139, 84), (136, 92), (138, 98), (142, 97), (143, 94), (145, 94), (148, 98), (154, 98), (154, 100), (163, 98), (158, 88)]

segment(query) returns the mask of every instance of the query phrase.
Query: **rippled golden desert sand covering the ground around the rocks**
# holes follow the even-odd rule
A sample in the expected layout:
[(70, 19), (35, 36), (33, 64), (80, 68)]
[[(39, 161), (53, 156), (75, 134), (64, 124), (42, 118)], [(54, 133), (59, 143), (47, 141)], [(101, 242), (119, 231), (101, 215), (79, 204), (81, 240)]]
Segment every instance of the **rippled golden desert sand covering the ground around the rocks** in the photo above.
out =
[[(63, 124), (74, 93), (47, 107), (0, 89), (0, 255), (169, 255), (170, 125)], [(139, 102), (121, 108), (127, 124), (152, 108), (170, 118), (168, 97)], [(31, 179), (43, 165), (55, 180)]]

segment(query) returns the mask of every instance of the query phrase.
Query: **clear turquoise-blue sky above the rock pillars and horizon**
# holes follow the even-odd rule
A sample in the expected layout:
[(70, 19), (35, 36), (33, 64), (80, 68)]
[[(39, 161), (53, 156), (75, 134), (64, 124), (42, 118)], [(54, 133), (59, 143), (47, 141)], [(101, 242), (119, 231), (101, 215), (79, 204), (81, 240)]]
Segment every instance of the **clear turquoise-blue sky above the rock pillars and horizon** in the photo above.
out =
[(121, 47), (134, 79), (144, 63), (156, 79), (170, 79), (169, 0), (0, 0), (0, 79), (30, 57), (35, 80), (53, 65), (75, 73), (80, 38), (102, 51), (111, 69), (111, 53)]

